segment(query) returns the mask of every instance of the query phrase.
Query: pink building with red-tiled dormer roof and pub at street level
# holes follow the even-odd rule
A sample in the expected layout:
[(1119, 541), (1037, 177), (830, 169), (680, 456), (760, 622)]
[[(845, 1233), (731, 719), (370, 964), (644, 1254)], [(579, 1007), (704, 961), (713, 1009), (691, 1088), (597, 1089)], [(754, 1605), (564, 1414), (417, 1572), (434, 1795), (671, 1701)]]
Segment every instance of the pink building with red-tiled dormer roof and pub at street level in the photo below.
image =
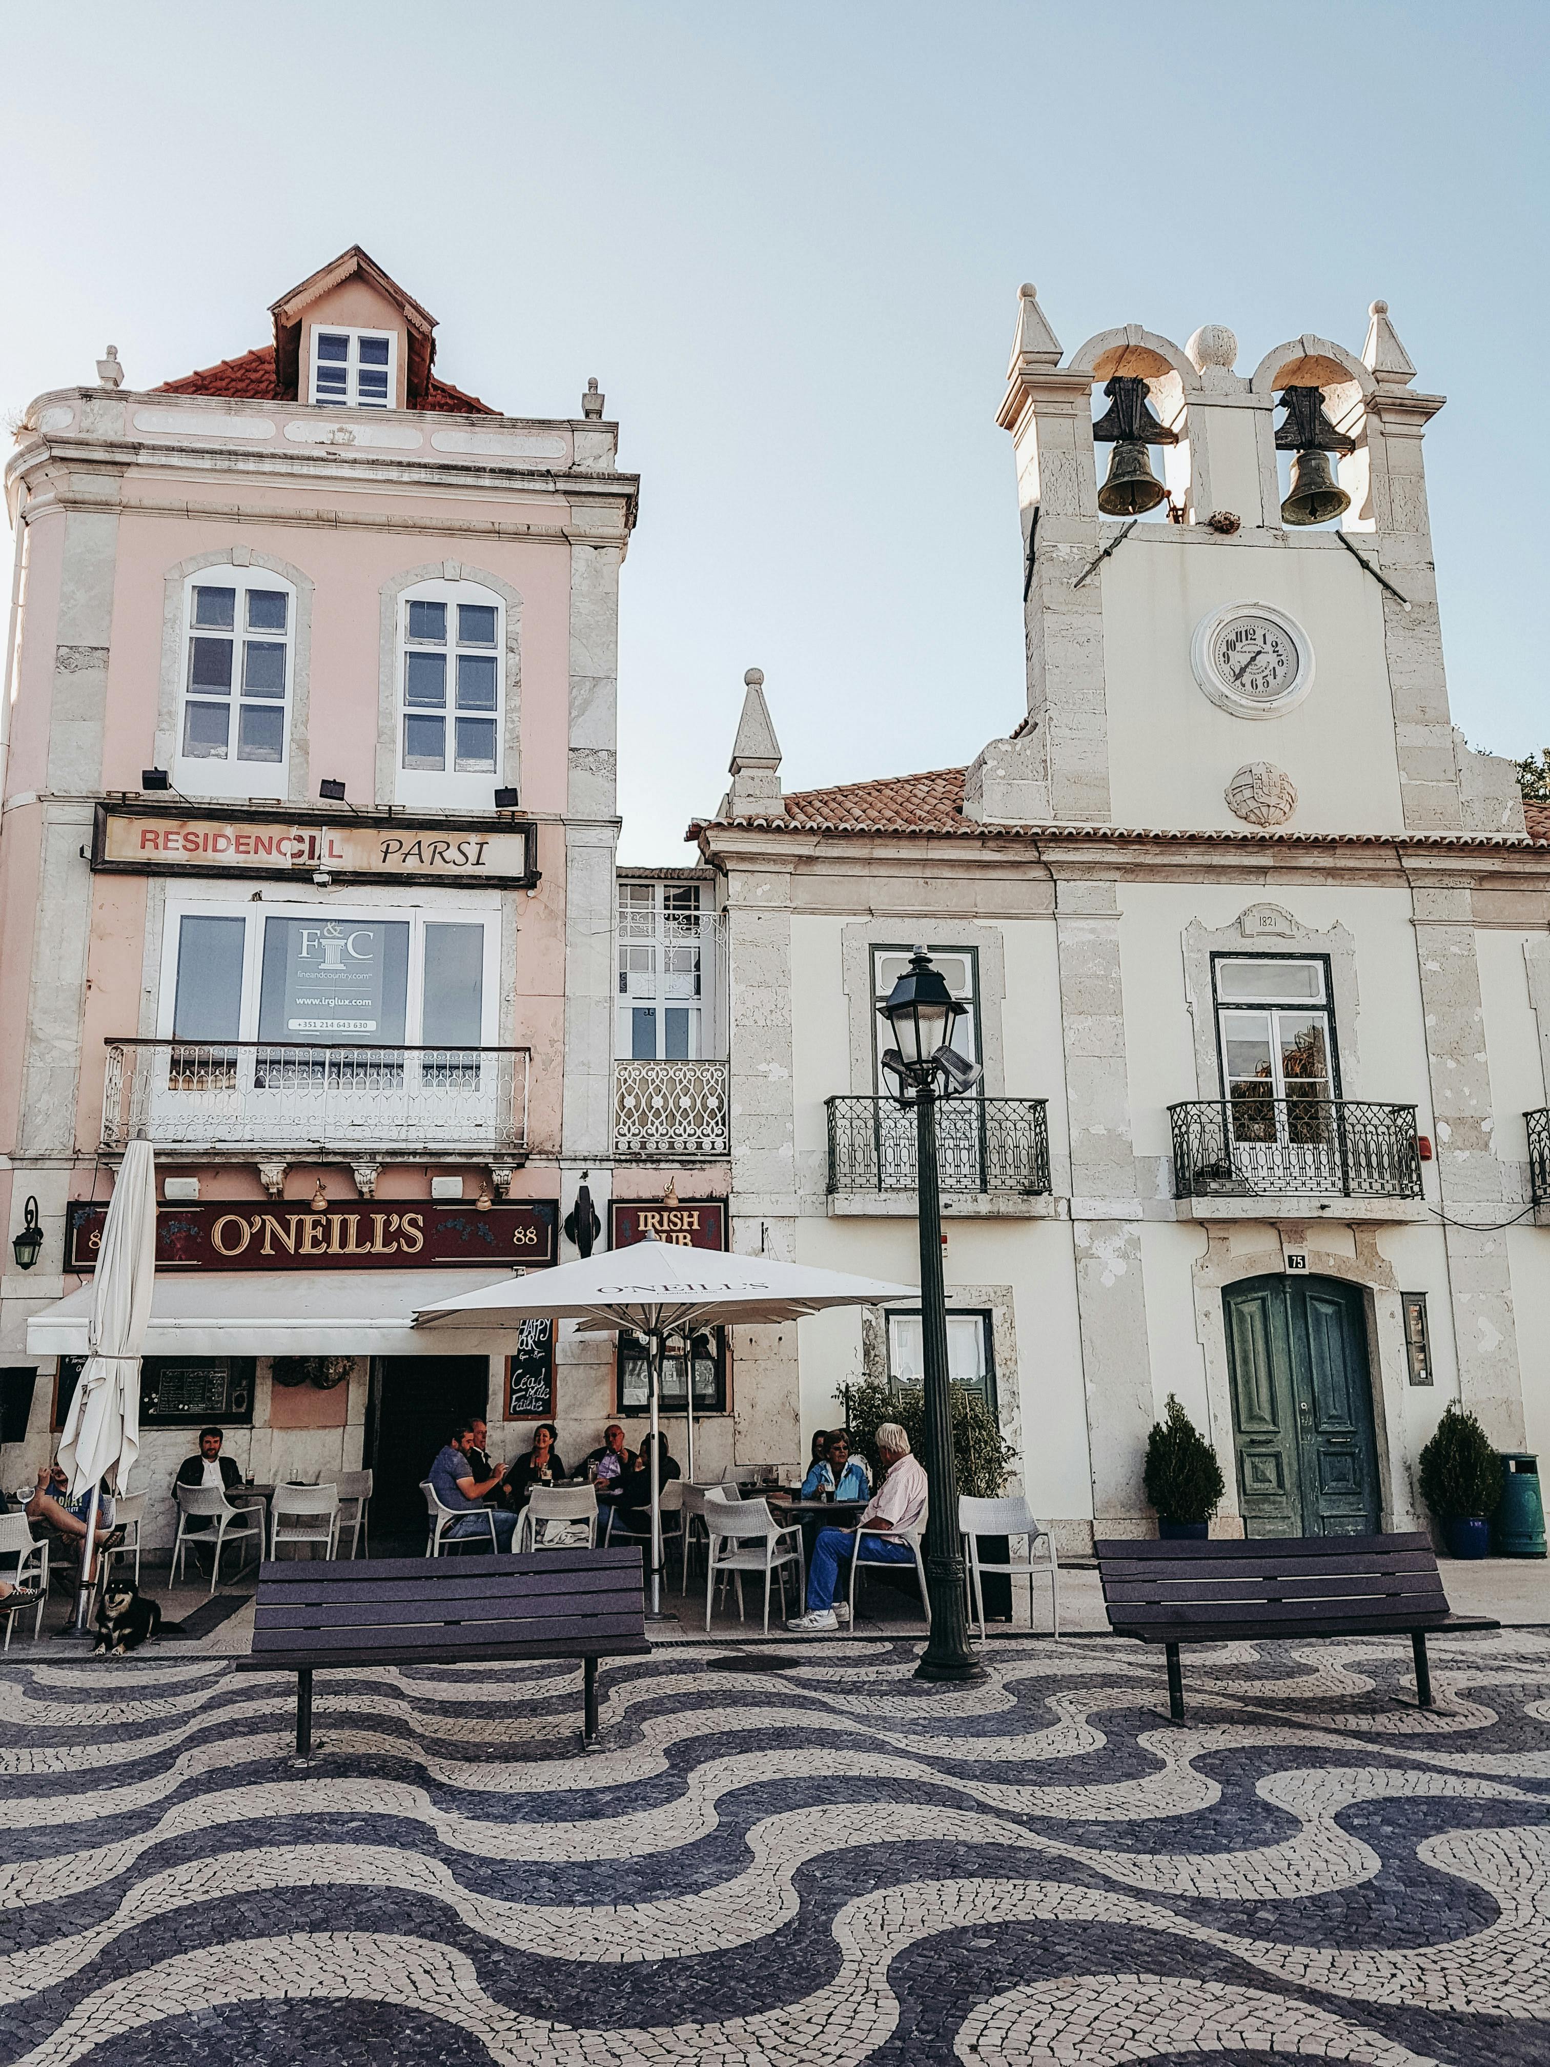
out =
[(163, 387), (110, 349), (6, 469), (0, 1205), (41, 1246), (4, 1251), (0, 1470), (52, 1451), (93, 1207), (145, 1133), (147, 1540), (200, 1420), (258, 1480), (374, 1466), (405, 1528), (448, 1414), (531, 1426), (546, 1354), (562, 1449), (591, 1447), (612, 1344), (562, 1344), (556, 1387), (554, 1346), (424, 1358), (409, 1317), (575, 1255), (583, 1178), (608, 1220), (668, 1174), (637, 1139), (612, 1176), (639, 484), (597, 382), (570, 420), (463, 395), (360, 248), (271, 314)]

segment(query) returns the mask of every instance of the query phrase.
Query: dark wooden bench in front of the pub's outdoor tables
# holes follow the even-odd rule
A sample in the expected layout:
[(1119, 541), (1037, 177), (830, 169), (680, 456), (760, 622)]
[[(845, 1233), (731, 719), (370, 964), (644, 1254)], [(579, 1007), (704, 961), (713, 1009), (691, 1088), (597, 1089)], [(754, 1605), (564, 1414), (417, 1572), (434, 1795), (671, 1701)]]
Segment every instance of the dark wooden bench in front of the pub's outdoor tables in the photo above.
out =
[(641, 1550), (318, 1559), (258, 1567), (252, 1652), (238, 1672), (296, 1672), (296, 1755), (312, 1755), (312, 1674), (508, 1658), (583, 1660), (583, 1740), (597, 1736), (597, 1660), (645, 1658)]

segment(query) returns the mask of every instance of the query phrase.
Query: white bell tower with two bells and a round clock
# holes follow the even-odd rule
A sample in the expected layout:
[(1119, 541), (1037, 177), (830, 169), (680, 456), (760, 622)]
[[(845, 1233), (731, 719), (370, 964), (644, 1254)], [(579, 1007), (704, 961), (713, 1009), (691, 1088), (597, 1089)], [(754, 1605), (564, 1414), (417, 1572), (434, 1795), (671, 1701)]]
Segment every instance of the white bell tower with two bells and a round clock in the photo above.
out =
[(1360, 356), (1302, 335), (1240, 374), (1215, 322), (1066, 358), (1023, 287), (998, 422), (1027, 713), (969, 767), (965, 812), (1521, 833), (1511, 765), (1449, 717), (1422, 463), (1443, 397), (1414, 378), (1385, 302)]

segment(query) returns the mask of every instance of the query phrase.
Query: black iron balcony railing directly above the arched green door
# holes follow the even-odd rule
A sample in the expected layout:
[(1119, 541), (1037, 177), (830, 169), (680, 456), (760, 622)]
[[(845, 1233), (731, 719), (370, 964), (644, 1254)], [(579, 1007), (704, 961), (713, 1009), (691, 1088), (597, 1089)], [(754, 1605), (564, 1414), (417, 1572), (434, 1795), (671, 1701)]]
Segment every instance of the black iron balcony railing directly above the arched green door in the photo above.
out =
[(1420, 1199), (1414, 1106), (1248, 1093), (1168, 1108), (1176, 1199)]

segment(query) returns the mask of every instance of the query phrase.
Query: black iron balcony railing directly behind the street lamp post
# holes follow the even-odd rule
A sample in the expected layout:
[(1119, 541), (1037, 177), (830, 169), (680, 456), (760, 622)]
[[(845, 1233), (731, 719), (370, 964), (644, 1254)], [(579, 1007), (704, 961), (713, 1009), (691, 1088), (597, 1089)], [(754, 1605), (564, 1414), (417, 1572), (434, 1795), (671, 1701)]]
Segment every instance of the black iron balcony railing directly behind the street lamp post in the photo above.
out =
[[(829, 1191), (916, 1189), (916, 1114), (891, 1098), (831, 1098)], [(1050, 1127), (1042, 1098), (951, 1098), (936, 1108), (942, 1191), (1050, 1191)]]

